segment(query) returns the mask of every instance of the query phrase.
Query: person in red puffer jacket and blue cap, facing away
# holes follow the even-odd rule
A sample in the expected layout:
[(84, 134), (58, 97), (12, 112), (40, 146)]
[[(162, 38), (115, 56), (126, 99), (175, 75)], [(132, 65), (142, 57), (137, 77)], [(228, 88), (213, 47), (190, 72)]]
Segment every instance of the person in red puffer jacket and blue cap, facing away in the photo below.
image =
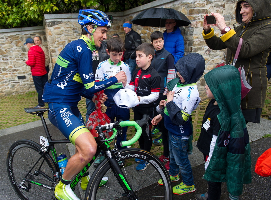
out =
[(45, 104), (41, 97), (43, 87), (48, 80), (48, 74), (45, 69), (45, 55), (41, 47), (34, 44), (32, 38), (27, 38), (24, 45), (29, 49), (28, 60), (25, 60), (25, 63), (31, 67), (33, 82), (38, 93), (38, 105), (35, 108), (43, 108)]

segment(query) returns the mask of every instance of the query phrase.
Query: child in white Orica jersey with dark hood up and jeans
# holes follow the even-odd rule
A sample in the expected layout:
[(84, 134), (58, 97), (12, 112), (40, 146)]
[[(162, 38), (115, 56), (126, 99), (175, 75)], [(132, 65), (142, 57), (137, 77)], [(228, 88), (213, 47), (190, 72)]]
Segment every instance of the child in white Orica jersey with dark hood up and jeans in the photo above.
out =
[[(152, 124), (157, 124), (164, 114), (164, 124), (169, 131), (169, 175), (171, 181), (178, 181), (180, 180), (180, 171), (183, 180), (173, 187), (173, 193), (183, 195), (195, 191), (187, 147), (188, 140), (193, 132), (191, 126), (192, 111), (196, 109), (200, 102), (196, 82), (204, 72), (205, 61), (200, 54), (191, 53), (180, 58), (174, 66), (179, 76), (179, 82), (172, 91), (168, 92), (164, 112), (160, 112), (152, 120)], [(160, 111), (163, 109), (163, 104), (165, 104), (165, 100), (162, 100), (158, 106)], [(157, 109), (157, 111), (159, 110)], [(163, 184), (161, 179), (158, 183)]]

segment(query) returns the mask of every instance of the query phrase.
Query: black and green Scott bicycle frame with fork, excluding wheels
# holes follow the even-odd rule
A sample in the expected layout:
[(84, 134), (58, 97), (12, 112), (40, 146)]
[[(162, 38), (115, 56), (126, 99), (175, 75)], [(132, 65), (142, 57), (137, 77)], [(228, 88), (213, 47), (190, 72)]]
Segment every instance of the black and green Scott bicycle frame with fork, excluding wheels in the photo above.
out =
[[(41, 122), (43, 124), (43, 128), (45, 130), (45, 133), (46, 133), (46, 136), (47, 136), (47, 140), (48, 140), (48, 143), (49, 143), (49, 146), (45, 147), (43, 146), (41, 149), (40, 149), (40, 154), (41, 154), (41, 157), (38, 159), (38, 161), (34, 164), (34, 166), (32, 167), (32, 169), (36, 166), (36, 164), (39, 162), (39, 160), (43, 157), (43, 155), (45, 153), (49, 153), (51, 151), (52, 153), (52, 156), (53, 156), (53, 160), (54, 160), (54, 164), (52, 164), (53, 166), (56, 167), (56, 171), (58, 171), (56, 174), (54, 174), (54, 177), (55, 177), (55, 180), (56, 181), (59, 181), (60, 180), (60, 168), (58, 166), (58, 163), (57, 163), (57, 160), (56, 160), (56, 157), (57, 157), (57, 154), (56, 154), (56, 150), (55, 150), (55, 147), (54, 147), (54, 144), (64, 144), (64, 143), (71, 143), (69, 140), (52, 140), (52, 136), (50, 135), (49, 133), (49, 130), (48, 130), (48, 127), (47, 127), (47, 124), (45, 122), (45, 119), (43, 117), (43, 113), (47, 111), (47, 110), (43, 110), (43, 111), (38, 111), (36, 112), (36, 115), (39, 116), (41, 118)], [(29, 112), (28, 112), (29, 113)], [(31, 112), (30, 112), (31, 113)], [(31, 113), (31, 114), (34, 114), (34, 113)], [(97, 131), (98, 131), (98, 137), (95, 138), (96, 140), (96, 143), (98, 144), (98, 149), (97, 149), (97, 152), (96, 154), (94, 155), (93, 159), (75, 176), (75, 178), (72, 180), (71, 182), (71, 188), (72, 190), (75, 189), (75, 186), (78, 184), (78, 182), (81, 180), (81, 178), (83, 177), (83, 175), (87, 172), (87, 170), (89, 169), (89, 167), (91, 166), (91, 164), (94, 162), (94, 160), (96, 159), (96, 157), (99, 155), (99, 153), (101, 151), (104, 152), (105, 154), (105, 157), (109, 160), (110, 164), (111, 164), (111, 170), (113, 171), (113, 173), (115, 174), (120, 186), (123, 188), (124, 192), (127, 194), (127, 196), (129, 197), (132, 197), (134, 199), (136, 199), (136, 195), (135, 193), (133, 192), (133, 190), (131, 189), (131, 186), (129, 184), (129, 182), (127, 181), (124, 173), (122, 172), (120, 166), (118, 165), (118, 162), (117, 162), (117, 159), (116, 159), (116, 156), (119, 156), (120, 157), (120, 151), (118, 151), (118, 149), (116, 148), (116, 144), (115, 144), (115, 148), (112, 150), (109, 146), (109, 143), (108, 143), (108, 140), (105, 136), (105, 134), (103, 133), (103, 131), (107, 130), (108, 128), (105, 127), (105, 126), (97, 126)], [(114, 134), (116, 134), (116, 129), (115, 127), (111, 127), (111, 129), (113, 129), (113, 132)], [(32, 170), (31, 169), (31, 170)], [(30, 171), (31, 171), (30, 170)], [(29, 172), (30, 172), (29, 171)], [(38, 183), (38, 182), (34, 182), (34, 181), (31, 181), (31, 180), (28, 180), (27, 179), (27, 176), (29, 175), (29, 173), (25, 176), (25, 180), (26, 181), (30, 181), (34, 184), (37, 184), (37, 185), (40, 185), (41, 187), (43, 188), (47, 188), (49, 190), (54, 190), (54, 188), (52, 188), (52, 186), (49, 186), (49, 185), (45, 185), (45, 184), (41, 184), (41, 183)], [(45, 174), (43, 174), (44, 177), (46, 178), (50, 178), (50, 177), (47, 177)]]

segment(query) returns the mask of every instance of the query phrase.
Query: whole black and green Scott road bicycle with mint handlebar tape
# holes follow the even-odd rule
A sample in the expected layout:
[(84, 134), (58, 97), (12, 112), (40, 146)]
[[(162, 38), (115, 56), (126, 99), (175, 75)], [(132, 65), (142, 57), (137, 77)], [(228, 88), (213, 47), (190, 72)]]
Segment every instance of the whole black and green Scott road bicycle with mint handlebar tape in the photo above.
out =
[[(54, 144), (70, 143), (69, 140), (53, 140), (49, 133), (43, 113), (48, 108), (25, 108), (25, 112), (41, 118), (46, 137), (40, 137), (40, 144), (32, 140), (18, 140), (10, 147), (7, 155), (8, 177), (13, 189), (21, 199), (55, 199), (54, 187), (61, 178), (61, 170), (56, 161), (57, 153)], [(138, 121), (121, 121), (96, 126), (98, 137), (97, 153), (72, 180), (71, 188), (81, 180), (85, 172), (100, 152), (104, 152), (105, 160), (94, 170), (85, 192), (88, 199), (172, 199), (172, 186), (169, 174), (162, 162), (152, 153), (139, 148), (118, 150), (114, 142), (111, 149), (109, 142), (115, 140), (117, 129), (124, 126), (134, 126), (135, 136), (122, 142), (128, 146), (138, 140), (141, 127), (147, 124), (146, 115)], [(113, 131), (107, 139), (105, 132)], [(143, 171), (137, 171), (136, 159), (146, 161), (149, 165)], [(121, 162), (120, 167), (118, 162)], [(105, 185), (99, 186), (103, 177), (108, 177)], [(157, 181), (162, 179), (163, 186)]]

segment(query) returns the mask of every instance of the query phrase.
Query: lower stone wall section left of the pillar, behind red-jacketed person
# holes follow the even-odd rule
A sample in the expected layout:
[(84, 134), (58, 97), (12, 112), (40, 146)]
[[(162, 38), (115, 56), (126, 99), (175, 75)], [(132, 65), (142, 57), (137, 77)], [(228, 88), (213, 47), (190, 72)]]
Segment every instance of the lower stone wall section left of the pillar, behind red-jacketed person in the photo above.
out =
[(23, 45), (26, 38), (39, 35), (47, 47), (43, 26), (8, 31), (0, 33), (0, 97), (35, 91), (30, 67), (23, 61), (28, 58), (28, 48)]

